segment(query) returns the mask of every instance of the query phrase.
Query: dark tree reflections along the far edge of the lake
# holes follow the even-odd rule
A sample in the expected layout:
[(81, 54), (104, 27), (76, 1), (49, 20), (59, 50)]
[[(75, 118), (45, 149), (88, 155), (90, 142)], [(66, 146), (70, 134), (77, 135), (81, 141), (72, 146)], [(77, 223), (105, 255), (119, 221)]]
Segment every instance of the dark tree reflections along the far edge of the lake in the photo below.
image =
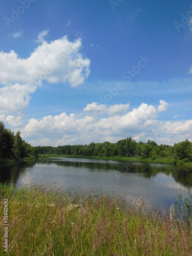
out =
[[(78, 161), (78, 159), (77, 159)], [(101, 163), (101, 162), (71, 162), (62, 160), (40, 159), (37, 162), (22, 162), (0, 165), (0, 182), (12, 182), (16, 184), (19, 174), (26, 172), (28, 167), (35, 164), (59, 165), (63, 167), (87, 168), (91, 172), (95, 170), (116, 170), (120, 173), (140, 174), (143, 178), (150, 179), (158, 174), (172, 175), (176, 182), (186, 187), (192, 187), (192, 170), (175, 165), (152, 165), (131, 163)]]

